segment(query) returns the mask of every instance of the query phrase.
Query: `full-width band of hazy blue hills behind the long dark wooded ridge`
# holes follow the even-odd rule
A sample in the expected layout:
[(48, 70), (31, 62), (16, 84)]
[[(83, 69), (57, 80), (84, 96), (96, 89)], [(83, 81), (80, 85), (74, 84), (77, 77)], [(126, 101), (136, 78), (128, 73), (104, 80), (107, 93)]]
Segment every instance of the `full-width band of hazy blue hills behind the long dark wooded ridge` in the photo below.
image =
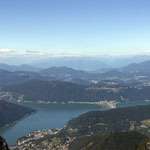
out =
[(0, 64), (0, 68), (3, 68), (0, 69), (0, 87), (20, 84), (33, 79), (62, 80), (83, 85), (88, 85), (93, 81), (99, 82), (105, 79), (122, 80), (128, 78), (135, 80), (138, 79), (136, 78), (137, 76), (143, 76), (144, 79), (150, 80), (149, 65), (150, 61), (146, 61), (118, 69), (107, 68), (108, 70), (106, 69), (106, 72), (96, 74), (96, 72), (75, 70), (66, 66), (39, 69), (29, 65), (14, 66)]

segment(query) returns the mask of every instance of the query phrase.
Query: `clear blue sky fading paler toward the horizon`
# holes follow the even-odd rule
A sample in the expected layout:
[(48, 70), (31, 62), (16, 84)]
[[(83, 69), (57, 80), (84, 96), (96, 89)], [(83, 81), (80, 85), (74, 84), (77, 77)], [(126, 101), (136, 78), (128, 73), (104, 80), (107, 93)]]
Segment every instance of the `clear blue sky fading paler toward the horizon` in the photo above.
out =
[(149, 0), (1, 0), (0, 51), (143, 53), (149, 7)]

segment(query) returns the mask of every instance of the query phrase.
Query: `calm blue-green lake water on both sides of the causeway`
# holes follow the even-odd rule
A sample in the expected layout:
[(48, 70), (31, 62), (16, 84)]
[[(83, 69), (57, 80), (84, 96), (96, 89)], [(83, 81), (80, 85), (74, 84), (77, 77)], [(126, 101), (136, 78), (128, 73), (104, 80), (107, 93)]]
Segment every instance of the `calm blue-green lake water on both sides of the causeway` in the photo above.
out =
[[(148, 105), (150, 102), (128, 102), (118, 104), (117, 107), (127, 107), (136, 105)], [(36, 113), (20, 120), (0, 130), (8, 145), (14, 145), (19, 137), (27, 135), (33, 130), (44, 130), (52, 128), (62, 128), (70, 119), (92, 110), (106, 110), (97, 105), (87, 104), (34, 104), (19, 103), (37, 110)]]

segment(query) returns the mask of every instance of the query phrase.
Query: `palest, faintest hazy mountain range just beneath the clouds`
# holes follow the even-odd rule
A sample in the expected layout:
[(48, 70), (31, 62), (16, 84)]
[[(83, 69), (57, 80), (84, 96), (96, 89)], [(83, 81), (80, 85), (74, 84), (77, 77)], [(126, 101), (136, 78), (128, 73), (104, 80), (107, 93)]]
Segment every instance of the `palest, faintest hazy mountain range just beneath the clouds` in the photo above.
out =
[(135, 56), (95, 56), (95, 57), (49, 57), (31, 63), (32, 66), (49, 68), (66, 66), (77, 70), (93, 71), (106, 68), (122, 68), (132, 63), (150, 60), (150, 55)]

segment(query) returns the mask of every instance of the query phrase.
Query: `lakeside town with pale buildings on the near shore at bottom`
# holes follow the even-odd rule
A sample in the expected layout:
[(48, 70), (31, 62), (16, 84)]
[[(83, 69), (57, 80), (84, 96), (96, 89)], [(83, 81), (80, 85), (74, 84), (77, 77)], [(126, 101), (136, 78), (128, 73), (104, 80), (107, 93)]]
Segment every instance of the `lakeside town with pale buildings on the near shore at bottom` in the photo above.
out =
[[(74, 138), (66, 137), (61, 140), (59, 137), (55, 137), (57, 133), (59, 133), (61, 129), (49, 129), (49, 130), (36, 130), (29, 133), (27, 136), (24, 136), (18, 139), (16, 145), (10, 146), (10, 150), (68, 150), (68, 146), (70, 142), (74, 140)], [(48, 141), (48, 136), (51, 137), (51, 141)], [(38, 140), (44, 139), (40, 145), (38, 145)]]

